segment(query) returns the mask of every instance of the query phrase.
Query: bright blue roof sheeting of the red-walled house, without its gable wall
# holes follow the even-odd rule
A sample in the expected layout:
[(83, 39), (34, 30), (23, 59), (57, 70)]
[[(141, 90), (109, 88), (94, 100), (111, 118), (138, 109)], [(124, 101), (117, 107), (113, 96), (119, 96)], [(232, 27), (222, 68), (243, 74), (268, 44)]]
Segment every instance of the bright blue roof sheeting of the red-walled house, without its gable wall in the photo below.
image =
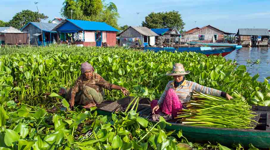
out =
[(85, 20), (73, 20), (73, 19), (65, 19), (61, 23), (59, 23), (53, 30), (57, 31), (57, 29), (62, 26), (67, 21), (73, 23), (75, 26), (79, 27), (82, 30), (93, 30), (93, 31), (116, 31), (117, 29), (108, 25), (104, 22), (95, 22), (95, 21), (85, 21)]

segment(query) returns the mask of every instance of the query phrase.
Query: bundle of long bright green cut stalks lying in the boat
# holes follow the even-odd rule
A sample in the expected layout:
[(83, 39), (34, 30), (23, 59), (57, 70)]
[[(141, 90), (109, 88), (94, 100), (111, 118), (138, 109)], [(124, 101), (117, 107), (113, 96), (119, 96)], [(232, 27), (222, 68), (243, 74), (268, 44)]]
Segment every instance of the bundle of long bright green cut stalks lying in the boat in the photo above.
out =
[(193, 94), (187, 109), (178, 112), (182, 124), (191, 126), (238, 128), (247, 129), (255, 127), (256, 115), (251, 106), (242, 98), (227, 100), (202, 93)]

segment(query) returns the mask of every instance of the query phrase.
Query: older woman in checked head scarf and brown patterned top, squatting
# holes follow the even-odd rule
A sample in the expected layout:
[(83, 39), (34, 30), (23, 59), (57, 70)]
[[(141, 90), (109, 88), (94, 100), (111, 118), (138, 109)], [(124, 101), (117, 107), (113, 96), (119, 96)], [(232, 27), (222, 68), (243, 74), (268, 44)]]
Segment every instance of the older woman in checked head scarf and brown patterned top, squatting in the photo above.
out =
[(121, 90), (125, 96), (129, 95), (126, 88), (111, 84), (95, 73), (94, 68), (88, 62), (81, 64), (81, 73), (82, 75), (76, 80), (74, 86), (66, 90), (66, 99), (69, 100), (70, 107), (76, 103), (84, 105), (84, 108), (90, 108), (102, 103), (104, 100), (103, 88)]

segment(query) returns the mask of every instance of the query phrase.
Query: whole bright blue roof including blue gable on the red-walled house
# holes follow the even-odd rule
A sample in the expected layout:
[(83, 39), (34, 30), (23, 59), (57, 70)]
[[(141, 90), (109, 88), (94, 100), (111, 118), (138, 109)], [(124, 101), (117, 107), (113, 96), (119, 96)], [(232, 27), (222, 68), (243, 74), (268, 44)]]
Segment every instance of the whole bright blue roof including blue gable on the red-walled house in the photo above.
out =
[[(71, 23), (73, 25), (71, 25)], [(63, 26), (63, 27), (62, 27)], [(57, 31), (75, 31), (75, 30), (93, 30), (93, 31), (118, 31), (104, 22), (85, 21), (65, 19), (54, 30)]]

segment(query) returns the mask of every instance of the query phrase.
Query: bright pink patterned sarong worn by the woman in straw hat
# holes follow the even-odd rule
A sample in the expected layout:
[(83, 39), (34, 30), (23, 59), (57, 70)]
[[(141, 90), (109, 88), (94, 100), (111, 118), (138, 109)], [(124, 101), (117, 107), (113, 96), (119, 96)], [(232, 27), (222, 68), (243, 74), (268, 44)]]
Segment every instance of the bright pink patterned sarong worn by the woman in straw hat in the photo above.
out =
[[(157, 105), (158, 100), (153, 100), (150, 105), (153, 109)], [(166, 93), (163, 105), (155, 111), (155, 114), (159, 112), (166, 113), (168, 115), (172, 115), (173, 117), (177, 116), (177, 112), (182, 109), (182, 103), (180, 102), (178, 96), (174, 92), (174, 89), (169, 89)]]

